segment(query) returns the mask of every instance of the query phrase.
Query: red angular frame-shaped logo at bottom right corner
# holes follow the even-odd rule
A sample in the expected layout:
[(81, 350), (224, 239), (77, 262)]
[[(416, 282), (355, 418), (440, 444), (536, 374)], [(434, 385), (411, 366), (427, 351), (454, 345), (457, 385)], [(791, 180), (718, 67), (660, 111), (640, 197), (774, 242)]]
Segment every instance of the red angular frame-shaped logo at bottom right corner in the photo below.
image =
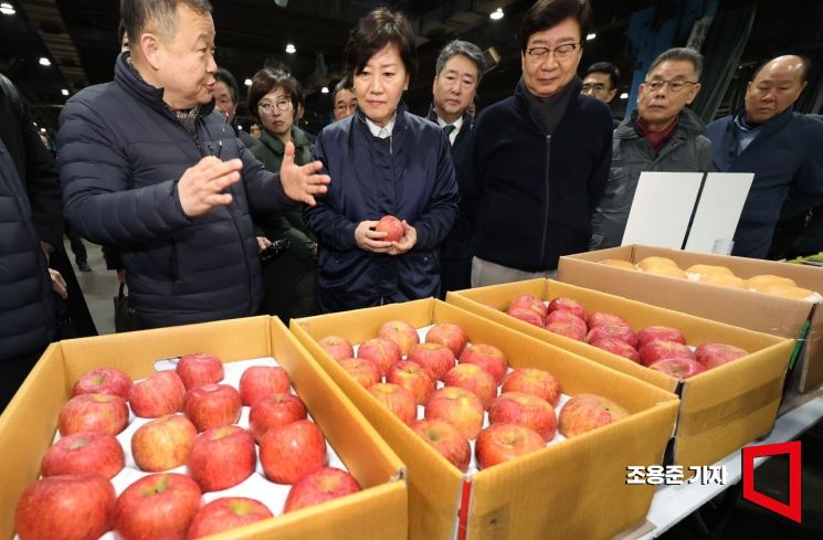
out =
[[(755, 458), (762, 456), (789, 455), (789, 504), (772, 499), (755, 490)], [(800, 441), (791, 443), (764, 444), (743, 448), (743, 498), (767, 510), (800, 523), (801, 510), (801, 472), (800, 472)]]

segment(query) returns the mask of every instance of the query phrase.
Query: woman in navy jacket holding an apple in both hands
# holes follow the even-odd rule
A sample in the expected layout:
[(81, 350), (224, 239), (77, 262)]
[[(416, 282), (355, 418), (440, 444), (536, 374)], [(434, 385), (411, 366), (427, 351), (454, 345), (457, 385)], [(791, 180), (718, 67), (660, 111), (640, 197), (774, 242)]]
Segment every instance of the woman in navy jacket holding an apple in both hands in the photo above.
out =
[[(409, 21), (383, 8), (370, 12), (344, 59), (357, 112), (320, 133), (315, 159), (333, 182), (305, 212), (319, 241), (320, 311), (435, 296), (437, 253), (458, 195), (447, 139), (401, 99), (415, 70)], [(400, 240), (374, 230), (384, 215), (402, 220)]]

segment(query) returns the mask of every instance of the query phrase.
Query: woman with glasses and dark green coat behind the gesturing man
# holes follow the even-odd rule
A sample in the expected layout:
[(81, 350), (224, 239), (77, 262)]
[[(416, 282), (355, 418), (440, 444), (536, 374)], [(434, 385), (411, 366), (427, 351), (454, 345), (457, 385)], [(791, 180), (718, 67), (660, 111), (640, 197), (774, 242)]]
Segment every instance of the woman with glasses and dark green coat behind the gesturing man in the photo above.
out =
[[(312, 161), (312, 142), (295, 123), (300, 94), (299, 83), (283, 72), (264, 68), (252, 77), (249, 109), (262, 126), (261, 145), (252, 152), (268, 170), (279, 170), (287, 142), (295, 146), (295, 163)], [(263, 250), (262, 313), (286, 322), (317, 313), (317, 242), (303, 222), (302, 210), (252, 214)]]

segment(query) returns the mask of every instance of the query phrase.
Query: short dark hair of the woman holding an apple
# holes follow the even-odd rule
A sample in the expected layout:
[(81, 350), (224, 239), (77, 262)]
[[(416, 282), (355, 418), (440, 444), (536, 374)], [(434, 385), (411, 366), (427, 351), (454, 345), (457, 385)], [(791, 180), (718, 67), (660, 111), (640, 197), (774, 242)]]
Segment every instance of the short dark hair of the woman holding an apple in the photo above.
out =
[(418, 71), (414, 32), (403, 13), (386, 8), (371, 11), (351, 29), (344, 51), (349, 73), (362, 72), (369, 59), (390, 43), (398, 47), (409, 76), (414, 75)]

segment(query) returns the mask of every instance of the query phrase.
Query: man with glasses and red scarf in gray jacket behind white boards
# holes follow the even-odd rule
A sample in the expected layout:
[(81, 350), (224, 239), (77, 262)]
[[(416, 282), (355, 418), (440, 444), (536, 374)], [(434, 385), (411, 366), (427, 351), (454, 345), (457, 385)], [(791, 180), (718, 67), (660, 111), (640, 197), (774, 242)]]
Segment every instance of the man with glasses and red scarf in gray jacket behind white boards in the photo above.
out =
[(589, 248), (621, 244), (643, 171), (708, 172), (711, 142), (706, 126), (686, 108), (700, 92), (703, 56), (669, 49), (652, 63), (640, 85), (637, 109), (614, 130), (605, 192), (592, 215)]

